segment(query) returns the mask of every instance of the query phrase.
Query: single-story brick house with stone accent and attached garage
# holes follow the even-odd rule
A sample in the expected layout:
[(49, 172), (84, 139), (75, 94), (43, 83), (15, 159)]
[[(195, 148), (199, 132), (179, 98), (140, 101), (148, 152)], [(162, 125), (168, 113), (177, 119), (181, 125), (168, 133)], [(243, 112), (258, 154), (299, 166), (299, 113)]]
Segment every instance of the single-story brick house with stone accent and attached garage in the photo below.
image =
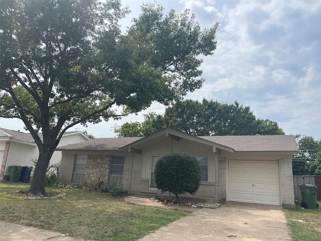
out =
[(166, 128), (144, 138), (94, 139), (57, 150), (63, 183), (97, 187), (122, 181), (131, 193), (161, 193), (152, 181), (155, 163), (187, 153), (200, 161), (202, 182), (186, 198), (294, 206), (294, 136), (195, 137)]

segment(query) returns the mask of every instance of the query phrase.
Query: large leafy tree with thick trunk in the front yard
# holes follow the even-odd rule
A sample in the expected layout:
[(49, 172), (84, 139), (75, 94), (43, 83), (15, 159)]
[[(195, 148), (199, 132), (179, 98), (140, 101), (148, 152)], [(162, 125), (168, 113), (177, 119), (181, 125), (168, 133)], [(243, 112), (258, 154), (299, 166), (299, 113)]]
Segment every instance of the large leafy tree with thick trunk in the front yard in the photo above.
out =
[(39, 148), (30, 193), (46, 195), (47, 166), (69, 128), (202, 86), (199, 56), (216, 49), (218, 24), (202, 30), (189, 11), (163, 11), (143, 5), (122, 33), (118, 20), (129, 11), (119, 0), (1, 3), (0, 117), (22, 119)]

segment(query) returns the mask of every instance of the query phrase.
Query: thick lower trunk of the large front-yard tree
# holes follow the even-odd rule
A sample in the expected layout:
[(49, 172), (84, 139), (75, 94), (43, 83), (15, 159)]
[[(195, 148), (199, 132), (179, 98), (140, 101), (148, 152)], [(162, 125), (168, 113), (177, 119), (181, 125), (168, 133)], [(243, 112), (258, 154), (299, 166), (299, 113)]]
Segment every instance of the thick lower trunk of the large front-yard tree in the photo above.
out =
[(39, 158), (36, 164), (34, 177), (31, 183), (31, 187), (28, 191), (29, 195), (35, 194), (37, 196), (46, 196), (47, 192), (45, 190), (45, 179), (47, 167), (52, 156), (52, 151), (39, 150)]

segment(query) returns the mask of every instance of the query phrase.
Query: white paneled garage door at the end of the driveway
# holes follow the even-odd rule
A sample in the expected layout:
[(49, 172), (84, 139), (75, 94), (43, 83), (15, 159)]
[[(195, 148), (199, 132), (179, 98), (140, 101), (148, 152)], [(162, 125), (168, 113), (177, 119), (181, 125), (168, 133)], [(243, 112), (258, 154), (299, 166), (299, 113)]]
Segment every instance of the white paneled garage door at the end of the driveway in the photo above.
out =
[(277, 161), (229, 161), (229, 200), (280, 205)]

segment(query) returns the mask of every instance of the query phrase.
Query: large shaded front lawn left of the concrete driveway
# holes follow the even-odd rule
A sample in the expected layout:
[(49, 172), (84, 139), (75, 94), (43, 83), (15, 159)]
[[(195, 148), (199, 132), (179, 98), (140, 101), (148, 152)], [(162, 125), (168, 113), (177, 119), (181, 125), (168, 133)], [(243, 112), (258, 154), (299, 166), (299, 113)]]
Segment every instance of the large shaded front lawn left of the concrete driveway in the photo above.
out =
[(90, 240), (135, 240), (191, 212), (138, 206), (122, 197), (75, 189), (61, 199), (12, 198), (9, 191), (27, 190), (30, 184), (0, 183), (0, 218), (9, 222), (68, 233)]

